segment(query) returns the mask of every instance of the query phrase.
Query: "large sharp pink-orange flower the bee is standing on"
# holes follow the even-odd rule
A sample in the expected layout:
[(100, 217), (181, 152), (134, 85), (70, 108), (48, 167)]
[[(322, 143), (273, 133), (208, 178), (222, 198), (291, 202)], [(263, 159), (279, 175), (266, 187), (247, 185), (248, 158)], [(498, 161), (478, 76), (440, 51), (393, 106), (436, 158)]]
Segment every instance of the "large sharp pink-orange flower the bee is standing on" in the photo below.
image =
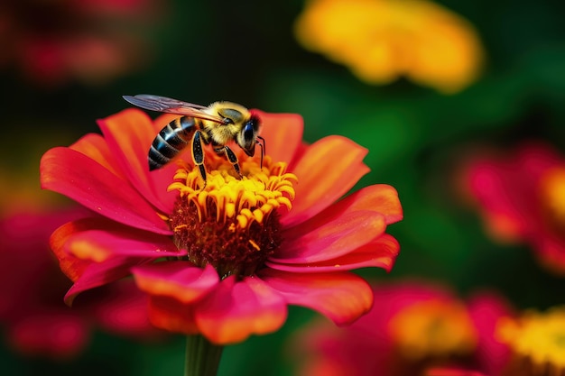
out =
[(263, 168), (259, 156), (238, 150), (239, 179), (207, 147), (205, 188), (190, 151), (149, 172), (149, 147), (173, 115), (153, 122), (128, 109), (99, 122), (103, 135), (45, 153), (43, 188), (103, 216), (52, 235), (74, 281), (69, 303), (133, 274), (150, 296), (155, 326), (214, 344), (277, 330), (287, 305), (338, 325), (369, 310), (371, 289), (351, 270), (392, 268), (399, 245), (384, 231), (403, 216), (396, 191), (374, 185), (336, 202), (368, 171), (366, 149), (340, 136), (307, 145), (299, 115), (254, 112), (263, 124)]

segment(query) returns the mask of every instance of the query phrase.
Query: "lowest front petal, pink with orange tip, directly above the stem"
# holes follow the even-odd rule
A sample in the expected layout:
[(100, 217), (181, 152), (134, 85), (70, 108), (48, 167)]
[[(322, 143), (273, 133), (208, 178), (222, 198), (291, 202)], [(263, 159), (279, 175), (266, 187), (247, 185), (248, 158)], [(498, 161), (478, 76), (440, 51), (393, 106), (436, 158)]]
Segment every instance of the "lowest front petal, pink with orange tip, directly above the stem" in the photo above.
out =
[(278, 330), (286, 320), (284, 299), (262, 280), (235, 277), (222, 280), (196, 307), (199, 330), (215, 344), (235, 344), (249, 335)]

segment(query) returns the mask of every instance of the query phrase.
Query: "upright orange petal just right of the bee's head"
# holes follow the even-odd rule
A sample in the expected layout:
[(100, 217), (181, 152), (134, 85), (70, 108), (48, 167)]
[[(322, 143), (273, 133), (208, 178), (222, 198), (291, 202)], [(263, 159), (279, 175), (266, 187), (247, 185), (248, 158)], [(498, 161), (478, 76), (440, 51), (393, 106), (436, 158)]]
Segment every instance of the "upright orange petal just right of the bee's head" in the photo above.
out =
[(261, 136), (265, 139), (266, 154), (275, 162), (292, 162), (295, 151), (301, 145), (304, 124), (301, 115), (269, 114), (252, 110), (262, 122)]

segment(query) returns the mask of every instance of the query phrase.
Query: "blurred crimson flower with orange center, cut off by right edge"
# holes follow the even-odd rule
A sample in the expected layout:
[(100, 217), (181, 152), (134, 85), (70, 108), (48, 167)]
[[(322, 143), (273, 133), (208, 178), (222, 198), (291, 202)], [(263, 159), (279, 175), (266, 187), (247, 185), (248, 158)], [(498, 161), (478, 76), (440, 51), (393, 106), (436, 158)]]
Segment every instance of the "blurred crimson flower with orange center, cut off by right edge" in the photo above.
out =
[(565, 273), (565, 159), (550, 145), (524, 143), (468, 161), (468, 193), (497, 240), (528, 243), (551, 271)]

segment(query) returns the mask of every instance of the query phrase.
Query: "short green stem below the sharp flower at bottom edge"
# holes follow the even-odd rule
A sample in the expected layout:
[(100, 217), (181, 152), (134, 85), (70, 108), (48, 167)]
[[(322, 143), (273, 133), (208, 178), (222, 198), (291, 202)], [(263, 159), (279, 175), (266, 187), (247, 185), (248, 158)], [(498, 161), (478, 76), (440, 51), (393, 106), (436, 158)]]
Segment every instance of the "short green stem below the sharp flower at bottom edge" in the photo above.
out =
[(187, 336), (184, 376), (216, 376), (223, 349), (202, 335)]

